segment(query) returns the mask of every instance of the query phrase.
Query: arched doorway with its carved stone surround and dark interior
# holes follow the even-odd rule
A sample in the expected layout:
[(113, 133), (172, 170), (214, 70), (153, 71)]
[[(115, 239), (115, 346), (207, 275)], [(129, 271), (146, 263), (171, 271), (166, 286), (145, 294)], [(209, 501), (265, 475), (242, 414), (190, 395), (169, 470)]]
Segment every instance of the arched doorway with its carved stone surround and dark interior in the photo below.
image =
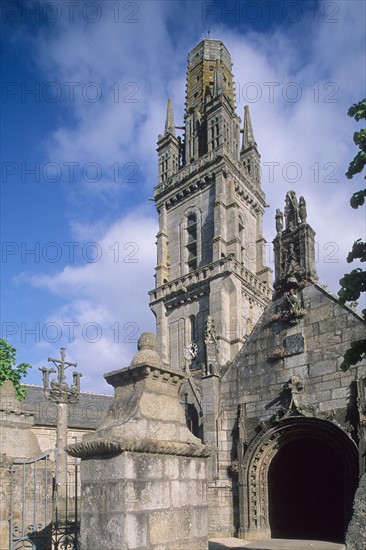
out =
[(243, 449), (239, 536), (342, 541), (358, 479), (358, 449), (335, 423), (294, 415)]

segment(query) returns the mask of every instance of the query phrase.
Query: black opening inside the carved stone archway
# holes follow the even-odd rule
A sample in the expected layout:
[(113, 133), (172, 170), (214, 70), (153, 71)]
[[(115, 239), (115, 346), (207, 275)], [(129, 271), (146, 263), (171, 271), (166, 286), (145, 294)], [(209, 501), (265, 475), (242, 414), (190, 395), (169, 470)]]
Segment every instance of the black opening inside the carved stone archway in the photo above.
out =
[(269, 467), (268, 493), (272, 538), (343, 541), (344, 469), (325, 442), (301, 437), (285, 444)]

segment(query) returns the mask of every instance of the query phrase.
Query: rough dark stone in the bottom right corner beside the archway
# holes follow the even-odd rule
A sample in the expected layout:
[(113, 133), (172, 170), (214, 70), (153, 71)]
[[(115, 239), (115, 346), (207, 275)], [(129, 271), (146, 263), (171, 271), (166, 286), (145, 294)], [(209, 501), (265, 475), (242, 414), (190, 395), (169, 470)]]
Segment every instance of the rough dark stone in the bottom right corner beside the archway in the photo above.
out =
[(366, 474), (359, 482), (353, 502), (353, 515), (346, 535), (346, 550), (365, 550), (366, 545)]

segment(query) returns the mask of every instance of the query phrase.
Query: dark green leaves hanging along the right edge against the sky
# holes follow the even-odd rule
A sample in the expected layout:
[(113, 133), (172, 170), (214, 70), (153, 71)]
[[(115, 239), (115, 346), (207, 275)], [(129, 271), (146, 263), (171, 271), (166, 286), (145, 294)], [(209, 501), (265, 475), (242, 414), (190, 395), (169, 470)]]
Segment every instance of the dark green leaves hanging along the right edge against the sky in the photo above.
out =
[[(366, 119), (366, 98), (355, 103), (348, 109), (348, 116), (353, 117), (357, 122)], [(350, 162), (346, 177), (352, 179), (353, 176), (363, 171), (366, 165), (366, 130), (362, 128), (353, 135), (353, 141), (359, 147), (360, 151), (355, 158)], [(366, 179), (366, 176), (365, 176)], [(350, 204), (352, 208), (363, 206), (366, 199), (366, 189), (361, 189), (353, 193)], [(347, 256), (347, 262), (351, 263), (354, 260), (366, 262), (366, 243), (362, 239), (357, 239), (353, 243), (352, 250)], [(346, 273), (339, 281), (341, 289), (338, 292), (339, 301), (341, 304), (358, 300), (362, 292), (366, 292), (366, 272), (361, 268), (353, 269), (350, 273)], [(366, 309), (362, 311), (364, 321), (366, 322)], [(352, 365), (355, 365), (366, 354), (366, 338), (355, 340), (351, 347), (346, 351), (341, 369), (346, 371)]]

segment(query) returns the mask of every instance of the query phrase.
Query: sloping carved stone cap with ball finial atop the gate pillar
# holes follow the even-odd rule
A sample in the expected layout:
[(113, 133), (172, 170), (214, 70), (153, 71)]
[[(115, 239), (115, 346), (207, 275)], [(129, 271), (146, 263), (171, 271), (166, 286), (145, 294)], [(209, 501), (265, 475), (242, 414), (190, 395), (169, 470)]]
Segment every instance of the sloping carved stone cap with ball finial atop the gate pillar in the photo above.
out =
[[(178, 392), (185, 380), (178, 373), (158, 366), (155, 349), (148, 349), (152, 336), (142, 335), (130, 367), (105, 375), (115, 388), (115, 399), (103, 425), (80, 443), (67, 447), (82, 458), (124, 451), (186, 456), (208, 456), (210, 450), (189, 431)], [(140, 342), (139, 341), (139, 342)], [(142, 360), (150, 361), (143, 363)], [(136, 363), (136, 365), (135, 365)]]

